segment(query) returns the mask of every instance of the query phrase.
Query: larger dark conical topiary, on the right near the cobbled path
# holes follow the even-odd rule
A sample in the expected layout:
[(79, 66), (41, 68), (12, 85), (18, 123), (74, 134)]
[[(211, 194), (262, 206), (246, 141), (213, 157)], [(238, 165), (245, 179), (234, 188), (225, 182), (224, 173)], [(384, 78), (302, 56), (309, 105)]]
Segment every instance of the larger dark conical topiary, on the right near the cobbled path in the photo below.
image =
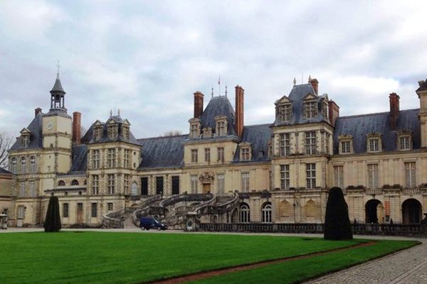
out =
[(339, 187), (332, 187), (327, 198), (325, 239), (353, 239), (347, 203)]

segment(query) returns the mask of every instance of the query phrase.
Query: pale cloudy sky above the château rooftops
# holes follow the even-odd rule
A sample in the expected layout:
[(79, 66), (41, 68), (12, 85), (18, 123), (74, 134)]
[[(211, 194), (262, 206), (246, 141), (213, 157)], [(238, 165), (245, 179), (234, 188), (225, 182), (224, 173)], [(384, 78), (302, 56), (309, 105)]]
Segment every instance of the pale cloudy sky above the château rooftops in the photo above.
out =
[(390, 92), (417, 108), (425, 4), (391, 2), (0, 1), (0, 132), (48, 110), (58, 59), (69, 113), (88, 129), (120, 109), (140, 138), (187, 133), (193, 93), (206, 106), (218, 75), (233, 105), (245, 89), (247, 125), (272, 122), (275, 99), (308, 75), (341, 115), (387, 111)]

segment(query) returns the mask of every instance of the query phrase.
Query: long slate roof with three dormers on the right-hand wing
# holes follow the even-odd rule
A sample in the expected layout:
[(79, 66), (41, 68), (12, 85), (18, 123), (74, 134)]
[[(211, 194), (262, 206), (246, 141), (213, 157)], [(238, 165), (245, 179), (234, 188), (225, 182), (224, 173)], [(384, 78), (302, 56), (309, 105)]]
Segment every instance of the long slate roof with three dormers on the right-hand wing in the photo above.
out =
[(353, 136), (354, 153), (367, 151), (367, 134), (371, 132), (381, 133), (383, 151), (395, 151), (397, 149), (397, 132), (411, 131), (413, 149), (421, 147), (419, 109), (406, 109), (399, 111), (396, 130), (390, 126), (390, 113), (380, 112), (376, 114), (362, 114), (357, 116), (341, 116), (335, 123), (334, 153), (338, 153), (338, 136), (350, 134)]

